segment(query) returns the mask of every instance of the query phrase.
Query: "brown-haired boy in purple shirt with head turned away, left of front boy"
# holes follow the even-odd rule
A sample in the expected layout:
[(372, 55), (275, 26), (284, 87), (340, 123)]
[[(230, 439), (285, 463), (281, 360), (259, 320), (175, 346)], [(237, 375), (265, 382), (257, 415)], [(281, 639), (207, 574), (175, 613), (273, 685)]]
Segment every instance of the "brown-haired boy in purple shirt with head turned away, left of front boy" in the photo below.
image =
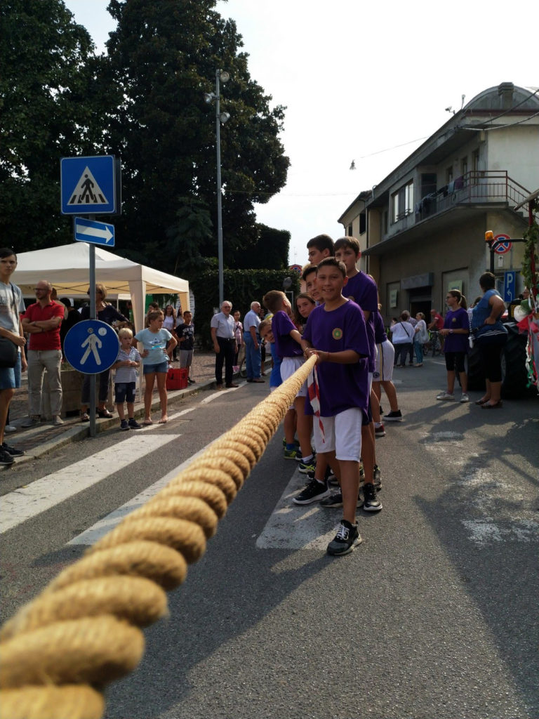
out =
[[(303, 365), (303, 349), (301, 347), (301, 334), (290, 319), (292, 305), (287, 296), (280, 290), (270, 290), (262, 298), (262, 303), (272, 313), (272, 333), (275, 342), (275, 352), (282, 359), (281, 378), (285, 382), (292, 377), (298, 367)], [(305, 414), (305, 397), (307, 384), (303, 383), (295, 396), (294, 409), (297, 417), (298, 439), (300, 441), (301, 461), (299, 470), (302, 474), (314, 472), (313, 449), (310, 446), (310, 435), (313, 431), (313, 418)], [(290, 426), (285, 425), (285, 439), (287, 451), (295, 449), (294, 433)], [(329, 494), (329, 493), (327, 493)]]

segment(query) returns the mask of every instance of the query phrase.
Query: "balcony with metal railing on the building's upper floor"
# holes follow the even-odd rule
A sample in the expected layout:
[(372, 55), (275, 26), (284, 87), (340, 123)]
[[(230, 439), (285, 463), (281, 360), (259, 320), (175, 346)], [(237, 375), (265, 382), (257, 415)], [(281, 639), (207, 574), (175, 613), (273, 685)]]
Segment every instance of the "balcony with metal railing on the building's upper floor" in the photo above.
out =
[(529, 194), (507, 170), (472, 170), (421, 198), (414, 208), (415, 223), (462, 205), (507, 203), (514, 207)]

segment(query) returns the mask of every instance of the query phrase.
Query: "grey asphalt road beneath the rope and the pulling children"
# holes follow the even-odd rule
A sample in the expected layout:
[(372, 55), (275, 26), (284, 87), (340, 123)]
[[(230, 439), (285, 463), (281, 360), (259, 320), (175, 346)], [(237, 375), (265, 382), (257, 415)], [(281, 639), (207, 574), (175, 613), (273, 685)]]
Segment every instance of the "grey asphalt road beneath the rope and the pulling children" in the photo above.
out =
[[(436, 402), (444, 377), (438, 358), (396, 370), (405, 421), (377, 440), (384, 508), (358, 510), (364, 541), (346, 557), (324, 551), (339, 510), (291, 505), (303, 477), (277, 431), (139, 669), (107, 691), (108, 719), (539, 717), (539, 403)], [(34, 513), (0, 535), (3, 619), (266, 394), (201, 392), (166, 426), (2, 475), (6, 521)]]

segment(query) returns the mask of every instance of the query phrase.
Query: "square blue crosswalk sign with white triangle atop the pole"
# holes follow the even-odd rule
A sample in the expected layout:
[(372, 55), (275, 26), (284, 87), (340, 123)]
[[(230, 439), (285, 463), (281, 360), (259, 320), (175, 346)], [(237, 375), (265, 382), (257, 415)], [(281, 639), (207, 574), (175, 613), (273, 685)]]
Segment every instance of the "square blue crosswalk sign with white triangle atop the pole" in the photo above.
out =
[(62, 214), (116, 214), (116, 158), (114, 155), (62, 157), (60, 188)]

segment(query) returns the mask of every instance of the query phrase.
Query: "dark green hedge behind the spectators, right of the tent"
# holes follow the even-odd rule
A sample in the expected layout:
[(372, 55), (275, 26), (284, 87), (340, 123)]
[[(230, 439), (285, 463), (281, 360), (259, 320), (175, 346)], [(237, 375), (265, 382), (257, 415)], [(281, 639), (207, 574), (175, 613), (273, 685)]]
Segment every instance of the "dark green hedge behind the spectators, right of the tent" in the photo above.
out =
[[(290, 291), (294, 296), (300, 292), (300, 275), (292, 270), (224, 270), (224, 298), (231, 301), (232, 312), (239, 310), (241, 321), (249, 311), (251, 303), (258, 301), (270, 290), (282, 290), (285, 278), (292, 280)], [(204, 347), (211, 348), (210, 322), (213, 308), (219, 305), (219, 275), (217, 270), (205, 270), (189, 280), (190, 290), (195, 296), (196, 334)]]

